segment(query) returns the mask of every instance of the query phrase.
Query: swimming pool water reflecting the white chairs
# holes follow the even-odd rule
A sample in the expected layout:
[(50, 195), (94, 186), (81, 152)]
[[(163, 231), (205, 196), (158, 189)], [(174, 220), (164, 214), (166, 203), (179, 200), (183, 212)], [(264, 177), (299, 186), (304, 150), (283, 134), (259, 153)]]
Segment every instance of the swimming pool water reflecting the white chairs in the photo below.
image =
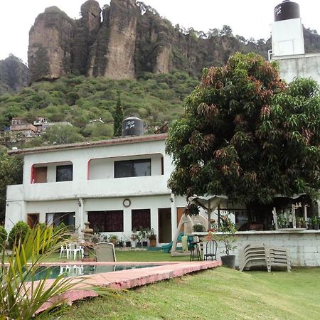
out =
[(57, 265), (51, 267), (40, 267), (34, 280), (41, 280), (46, 277), (47, 279), (55, 279), (60, 274), (63, 277), (79, 277), (83, 275), (114, 272), (130, 269), (141, 269), (146, 267), (157, 267), (158, 265)]

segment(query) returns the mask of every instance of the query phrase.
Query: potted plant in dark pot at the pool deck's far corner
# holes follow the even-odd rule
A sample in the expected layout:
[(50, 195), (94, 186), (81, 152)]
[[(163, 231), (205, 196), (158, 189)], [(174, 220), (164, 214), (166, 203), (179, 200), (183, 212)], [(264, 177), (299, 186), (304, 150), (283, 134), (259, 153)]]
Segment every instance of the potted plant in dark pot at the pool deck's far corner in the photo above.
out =
[(220, 218), (220, 227), (218, 228), (218, 234), (209, 231), (206, 236), (207, 240), (217, 240), (223, 242), (223, 250), (220, 252), (225, 253), (225, 255), (221, 256), (221, 261), (225, 267), (235, 269), (235, 255), (230, 255), (230, 251), (235, 250), (237, 247), (235, 245), (235, 232), (237, 228), (235, 228), (235, 224), (231, 221), (228, 215), (223, 215)]

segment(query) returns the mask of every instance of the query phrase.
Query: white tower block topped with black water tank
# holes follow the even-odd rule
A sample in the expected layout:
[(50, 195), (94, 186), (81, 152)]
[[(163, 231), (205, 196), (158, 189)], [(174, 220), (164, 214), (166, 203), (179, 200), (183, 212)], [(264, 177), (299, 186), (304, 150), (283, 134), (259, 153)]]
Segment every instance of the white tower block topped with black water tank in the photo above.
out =
[(303, 55), (304, 33), (299, 4), (285, 0), (274, 8), (272, 56)]

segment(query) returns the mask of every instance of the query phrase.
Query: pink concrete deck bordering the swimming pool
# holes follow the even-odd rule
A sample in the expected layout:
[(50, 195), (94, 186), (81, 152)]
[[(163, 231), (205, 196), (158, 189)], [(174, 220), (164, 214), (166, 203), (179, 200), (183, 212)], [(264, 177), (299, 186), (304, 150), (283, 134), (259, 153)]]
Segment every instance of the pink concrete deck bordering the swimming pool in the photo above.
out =
[[(72, 278), (71, 283), (75, 284), (73, 289), (65, 292), (63, 297), (58, 299), (65, 299), (68, 304), (74, 301), (87, 298), (96, 297), (97, 293), (92, 291), (90, 287), (110, 287), (113, 289), (129, 289), (133, 287), (143, 286), (144, 284), (151, 284), (164, 279), (171, 279), (180, 277), (183, 274), (206, 270), (221, 265), (220, 261), (194, 261), (194, 262), (70, 262), (70, 263), (50, 263), (45, 265), (158, 265), (157, 267), (145, 267), (143, 269), (122, 270), (116, 272), (105, 272), (98, 274), (85, 275), (81, 277)], [(81, 282), (80, 282), (81, 279)], [(54, 279), (48, 280), (50, 285)], [(48, 308), (50, 302), (43, 305), (38, 311)]]

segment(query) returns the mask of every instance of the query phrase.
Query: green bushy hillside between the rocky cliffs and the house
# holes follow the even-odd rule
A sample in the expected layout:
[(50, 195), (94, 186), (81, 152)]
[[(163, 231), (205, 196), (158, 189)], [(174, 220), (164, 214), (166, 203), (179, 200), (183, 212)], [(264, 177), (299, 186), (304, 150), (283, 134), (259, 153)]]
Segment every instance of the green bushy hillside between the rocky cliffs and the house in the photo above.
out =
[[(183, 100), (198, 83), (181, 71), (144, 73), (139, 80), (70, 76), (36, 82), (20, 92), (0, 95), (0, 128), (8, 127), (12, 117), (32, 123), (41, 116), (50, 122), (70, 122), (80, 134), (78, 140), (112, 137), (119, 92), (124, 116), (144, 119), (152, 132), (154, 127), (181, 117)], [(105, 124), (90, 124), (93, 119), (102, 119)]]

